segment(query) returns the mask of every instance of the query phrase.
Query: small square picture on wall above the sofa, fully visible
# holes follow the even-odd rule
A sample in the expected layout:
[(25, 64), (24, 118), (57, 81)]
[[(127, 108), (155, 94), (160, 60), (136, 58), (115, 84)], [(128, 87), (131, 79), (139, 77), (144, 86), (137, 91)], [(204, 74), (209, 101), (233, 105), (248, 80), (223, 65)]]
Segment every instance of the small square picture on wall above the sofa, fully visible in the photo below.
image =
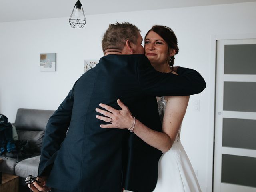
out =
[(40, 71), (56, 71), (56, 53), (40, 54)]

